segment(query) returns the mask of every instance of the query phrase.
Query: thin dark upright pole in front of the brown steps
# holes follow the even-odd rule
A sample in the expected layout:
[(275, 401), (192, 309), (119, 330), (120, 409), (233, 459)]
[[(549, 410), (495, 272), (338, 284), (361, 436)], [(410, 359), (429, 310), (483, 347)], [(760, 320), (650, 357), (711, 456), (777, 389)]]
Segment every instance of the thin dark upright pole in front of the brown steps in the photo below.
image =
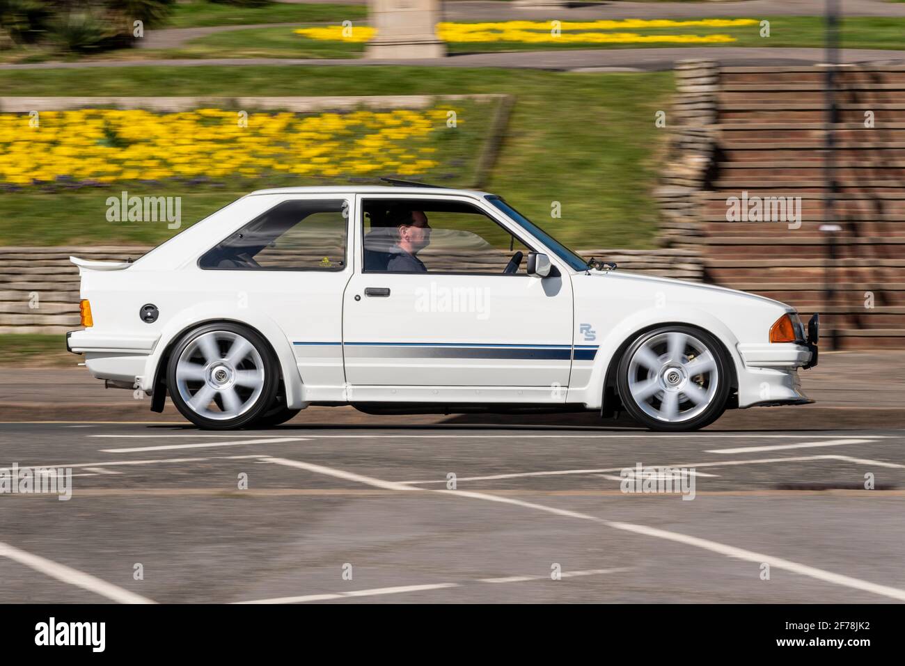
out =
[[(836, 109), (836, 70), (839, 66), (839, 0), (826, 0), (826, 126), (824, 131), (824, 225), (826, 241), (826, 271), (824, 276), (824, 306), (829, 309), (834, 302), (834, 269), (836, 262), (835, 233), (839, 230), (836, 223), (836, 195), (839, 191), (836, 182), (836, 145), (834, 126), (838, 122)], [(831, 318), (831, 320), (834, 318)], [(839, 348), (839, 325), (834, 322), (830, 338), (830, 347)]]

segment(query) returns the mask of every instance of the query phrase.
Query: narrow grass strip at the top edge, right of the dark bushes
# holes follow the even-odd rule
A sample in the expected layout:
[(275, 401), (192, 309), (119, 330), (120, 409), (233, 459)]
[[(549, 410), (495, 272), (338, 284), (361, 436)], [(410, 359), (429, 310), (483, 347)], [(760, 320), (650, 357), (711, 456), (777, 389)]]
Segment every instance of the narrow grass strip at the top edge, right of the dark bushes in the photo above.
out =
[(287, 5), (271, 3), (242, 7), (206, 0), (174, 5), (167, 28), (199, 28), (209, 25), (282, 24), (291, 21), (321, 23), (355, 21), (367, 16), (367, 5)]

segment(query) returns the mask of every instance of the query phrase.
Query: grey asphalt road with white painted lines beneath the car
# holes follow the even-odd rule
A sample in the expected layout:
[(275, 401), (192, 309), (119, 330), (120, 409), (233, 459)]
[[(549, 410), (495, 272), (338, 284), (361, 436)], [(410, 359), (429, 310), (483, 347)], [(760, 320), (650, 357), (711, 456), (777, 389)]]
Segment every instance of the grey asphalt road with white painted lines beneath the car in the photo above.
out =
[[(0, 464), (72, 477), (67, 501), (0, 494), (0, 585), (33, 603), (905, 601), (903, 442), (3, 423)], [(694, 499), (622, 492), (636, 463)]]

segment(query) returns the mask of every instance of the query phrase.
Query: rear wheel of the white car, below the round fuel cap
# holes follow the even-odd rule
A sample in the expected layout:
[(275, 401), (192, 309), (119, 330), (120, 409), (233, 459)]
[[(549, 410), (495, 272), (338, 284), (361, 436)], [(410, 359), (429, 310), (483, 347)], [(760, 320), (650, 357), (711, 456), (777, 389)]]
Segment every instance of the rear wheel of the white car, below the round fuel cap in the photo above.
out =
[(208, 324), (176, 343), (167, 390), (195, 425), (233, 430), (251, 425), (273, 404), (280, 380), (270, 347), (238, 324)]

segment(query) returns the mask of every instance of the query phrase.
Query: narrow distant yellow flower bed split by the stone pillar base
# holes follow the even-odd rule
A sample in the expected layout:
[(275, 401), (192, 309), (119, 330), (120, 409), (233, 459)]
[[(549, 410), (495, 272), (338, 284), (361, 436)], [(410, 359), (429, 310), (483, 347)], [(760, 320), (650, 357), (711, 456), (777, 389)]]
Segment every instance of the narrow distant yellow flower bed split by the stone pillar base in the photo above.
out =
[[(693, 19), (624, 19), (620, 21), (501, 21), (496, 23), (439, 23), (437, 36), (444, 42), (521, 42), (521, 43), (726, 43), (735, 42), (729, 34), (638, 34), (604, 33), (613, 30), (645, 30), (652, 28), (709, 27), (730, 28), (757, 25), (753, 18)], [(594, 32), (569, 32), (594, 31)], [(299, 28), (304, 37), (334, 42), (367, 42), (376, 35), (371, 27), (330, 25)]]

